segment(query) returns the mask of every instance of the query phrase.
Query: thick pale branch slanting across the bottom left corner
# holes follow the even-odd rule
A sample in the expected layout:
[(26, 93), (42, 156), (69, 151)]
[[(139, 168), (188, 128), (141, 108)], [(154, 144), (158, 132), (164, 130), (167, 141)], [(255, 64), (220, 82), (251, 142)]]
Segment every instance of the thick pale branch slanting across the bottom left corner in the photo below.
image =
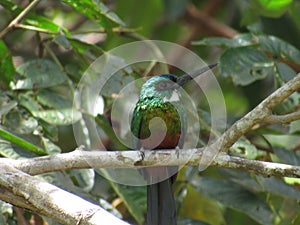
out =
[(29, 176), (11, 165), (2, 162), (0, 171), (0, 199), (6, 202), (63, 224), (127, 224), (99, 206)]

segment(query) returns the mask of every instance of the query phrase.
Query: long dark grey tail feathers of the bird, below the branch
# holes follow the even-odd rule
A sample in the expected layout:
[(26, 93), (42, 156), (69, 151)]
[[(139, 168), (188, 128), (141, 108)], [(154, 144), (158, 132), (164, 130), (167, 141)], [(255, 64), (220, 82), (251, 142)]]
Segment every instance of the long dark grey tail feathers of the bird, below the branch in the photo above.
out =
[(147, 225), (176, 225), (174, 177), (147, 186)]

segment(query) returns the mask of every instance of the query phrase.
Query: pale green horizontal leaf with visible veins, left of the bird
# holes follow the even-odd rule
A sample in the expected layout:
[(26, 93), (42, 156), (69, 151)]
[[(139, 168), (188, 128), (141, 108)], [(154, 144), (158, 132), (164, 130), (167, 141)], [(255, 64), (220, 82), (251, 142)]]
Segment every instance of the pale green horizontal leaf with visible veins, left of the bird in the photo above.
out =
[(31, 111), (31, 113), (34, 117), (52, 125), (71, 125), (81, 119), (81, 113), (73, 108)]

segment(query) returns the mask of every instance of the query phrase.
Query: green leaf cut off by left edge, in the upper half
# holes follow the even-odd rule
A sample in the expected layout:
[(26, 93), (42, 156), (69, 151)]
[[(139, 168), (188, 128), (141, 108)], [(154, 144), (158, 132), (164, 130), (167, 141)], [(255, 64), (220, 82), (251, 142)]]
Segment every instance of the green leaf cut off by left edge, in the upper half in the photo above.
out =
[(13, 81), (15, 67), (13, 65), (12, 56), (5, 43), (0, 40), (0, 86), (1, 84), (8, 87)]

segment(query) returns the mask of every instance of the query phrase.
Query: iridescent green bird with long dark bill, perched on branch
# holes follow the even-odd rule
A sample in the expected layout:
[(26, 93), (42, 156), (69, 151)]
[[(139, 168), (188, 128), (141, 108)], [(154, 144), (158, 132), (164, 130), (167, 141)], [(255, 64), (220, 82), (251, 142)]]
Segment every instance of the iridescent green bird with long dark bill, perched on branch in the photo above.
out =
[[(180, 87), (217, 64), (192, 74), (154, 76), (146, 81), (133, 111), (131, 131), (138, 141), (136, 149), (182, 148), (187, 115), (180, 99)], [(158, 119), (159, 118), (159, 119)], [(147, 225), (176, 225), (173, 184), (177, 166), (149, 167), (140, 170), (147, 181)]]

